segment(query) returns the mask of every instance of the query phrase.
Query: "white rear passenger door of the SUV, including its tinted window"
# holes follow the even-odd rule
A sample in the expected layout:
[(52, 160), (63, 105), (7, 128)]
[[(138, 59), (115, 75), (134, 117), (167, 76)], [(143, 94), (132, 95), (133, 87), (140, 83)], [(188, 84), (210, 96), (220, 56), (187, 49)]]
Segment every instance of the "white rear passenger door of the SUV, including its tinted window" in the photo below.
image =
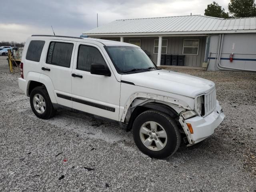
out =
[(71, 74), (76, 42), (50, 40), (46, 60), (42, 63), (42, 74), (48, 76), (54, 86), (58, 104), (72, 107)]

